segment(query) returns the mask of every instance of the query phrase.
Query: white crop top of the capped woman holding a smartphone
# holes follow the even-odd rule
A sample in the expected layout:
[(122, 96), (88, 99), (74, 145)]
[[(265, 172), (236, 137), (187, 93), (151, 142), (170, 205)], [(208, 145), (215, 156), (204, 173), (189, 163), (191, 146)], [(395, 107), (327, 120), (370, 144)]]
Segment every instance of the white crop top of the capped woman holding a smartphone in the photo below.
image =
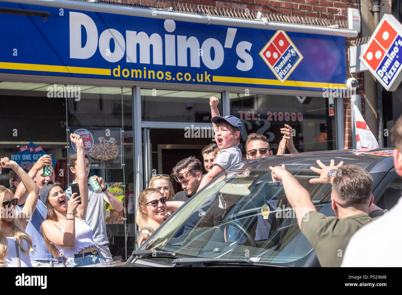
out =
[[(64, 232), (66, 226), (61, 226), (59, 229)], [(85, 220), (79, 219), (75, 221), (75, 229), (76, 229), (76, 239), (74, 242), (74, 246), (72, 247), (62, 247), (55, 245), (56, 248), (60, 251), (60, 253), (66, 257), (67, 259), (74, 259), (74, 255), (78, 254), (81, 250), (86, 247), (96, 246), (99, 248), (92, 238), (92, 228), (85, 222)]]

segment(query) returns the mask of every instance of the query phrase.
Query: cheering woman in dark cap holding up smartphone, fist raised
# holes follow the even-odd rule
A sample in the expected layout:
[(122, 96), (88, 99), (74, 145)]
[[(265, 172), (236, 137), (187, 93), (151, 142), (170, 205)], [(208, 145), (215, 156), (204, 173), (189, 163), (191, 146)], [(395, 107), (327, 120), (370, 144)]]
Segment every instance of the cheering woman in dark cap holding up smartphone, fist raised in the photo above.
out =
[[(106, 262), (92, 239), (92, 229), (85, 222), (88, 207), (88, 189), (84, 161), (84, 144), (78, 134), (70, 134), (76, 145), (76, 179), (81, 195), (73, 193), (67, 202), (63, 189), (49, 181), (41, 189), (41, 201), (47, 208), (42, 223), (43, 238), (54, 257), (64, 256), (68, 267)], [(79, 204), (80, 203), (80, 204)]]

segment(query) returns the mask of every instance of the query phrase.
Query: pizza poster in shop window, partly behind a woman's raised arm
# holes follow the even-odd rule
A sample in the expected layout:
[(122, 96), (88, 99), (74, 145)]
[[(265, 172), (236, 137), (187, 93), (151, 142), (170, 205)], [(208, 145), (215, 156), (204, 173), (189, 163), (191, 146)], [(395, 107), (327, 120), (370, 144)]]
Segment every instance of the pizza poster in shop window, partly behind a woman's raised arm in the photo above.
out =
[[(91, 169), (121, 169), (120, 128), (70, 127), (84, 141)], [(70, 155), (76, 152), (72, 144)]]

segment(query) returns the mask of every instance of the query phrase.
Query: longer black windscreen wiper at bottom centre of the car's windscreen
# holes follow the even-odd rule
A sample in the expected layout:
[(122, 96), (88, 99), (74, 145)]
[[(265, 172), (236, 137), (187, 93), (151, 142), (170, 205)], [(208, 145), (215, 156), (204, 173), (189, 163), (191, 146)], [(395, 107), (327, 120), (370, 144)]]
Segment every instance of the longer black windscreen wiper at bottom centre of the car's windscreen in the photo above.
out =
[(254, 262), (250, 259), (215, 259), (215, 258), (176, 258), (171, 267), (188, 267), (203, 265), (240, 265), (245, 267), (283, 267), (280, 264)]

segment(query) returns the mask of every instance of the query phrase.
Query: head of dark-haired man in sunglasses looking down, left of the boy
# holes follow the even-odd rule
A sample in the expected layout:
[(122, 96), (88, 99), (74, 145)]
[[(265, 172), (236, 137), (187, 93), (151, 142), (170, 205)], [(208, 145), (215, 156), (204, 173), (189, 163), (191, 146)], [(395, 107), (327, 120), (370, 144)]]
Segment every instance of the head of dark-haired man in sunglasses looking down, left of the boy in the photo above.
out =
[(179, 161), (173, 167), (172, 176), (183, 188), (183, 191), (174, 195), (173, 201), (187, 201), (197, 192), (201, 184), (202, 165), (200, 160), (191, 156)]

